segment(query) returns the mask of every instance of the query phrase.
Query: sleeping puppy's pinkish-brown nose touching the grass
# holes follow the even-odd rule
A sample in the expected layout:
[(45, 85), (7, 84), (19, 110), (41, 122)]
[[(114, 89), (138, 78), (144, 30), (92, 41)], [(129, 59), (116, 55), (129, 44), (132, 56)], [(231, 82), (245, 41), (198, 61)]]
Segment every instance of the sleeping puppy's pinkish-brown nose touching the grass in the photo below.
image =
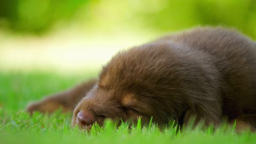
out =
[(93, 115), (88, 111), (82, 110), (82, 111), (79, 111), (79, 113), (77, 114), (77, 123), (82, 128), (93, 124), (93, 119), (94, 119)]

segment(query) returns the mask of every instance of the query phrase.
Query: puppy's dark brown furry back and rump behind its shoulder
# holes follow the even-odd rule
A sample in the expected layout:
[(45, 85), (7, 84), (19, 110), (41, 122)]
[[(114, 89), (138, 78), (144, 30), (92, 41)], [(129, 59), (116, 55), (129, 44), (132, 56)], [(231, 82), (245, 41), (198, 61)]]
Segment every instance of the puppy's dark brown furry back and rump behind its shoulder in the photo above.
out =
[(235, 30), (196, 28), (163, 37), (209, 54), (220, 73), (223, 115), (256, 114), (256, 43)]

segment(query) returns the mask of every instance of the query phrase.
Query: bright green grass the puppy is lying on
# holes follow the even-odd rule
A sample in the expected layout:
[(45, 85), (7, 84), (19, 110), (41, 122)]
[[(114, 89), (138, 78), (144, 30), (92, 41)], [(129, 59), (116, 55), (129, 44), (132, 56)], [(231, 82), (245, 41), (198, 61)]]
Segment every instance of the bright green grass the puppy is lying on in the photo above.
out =
[(58, 75), (54, 73), (0, 73), (0, 143), (256, 143), (256, 134), (235, 133), (223, 125), (217, 130), (185, 129), (175, 125), (159, 130), (156, 125), (122, 124), (118, 129), (109, 121), (105, 126), (93, 126), (84, 132), (70, 126), (71, 114), (35, 113), (29, 116), (23, 109), (27, 102), (43, 95), (66, 89), (95, 76)]

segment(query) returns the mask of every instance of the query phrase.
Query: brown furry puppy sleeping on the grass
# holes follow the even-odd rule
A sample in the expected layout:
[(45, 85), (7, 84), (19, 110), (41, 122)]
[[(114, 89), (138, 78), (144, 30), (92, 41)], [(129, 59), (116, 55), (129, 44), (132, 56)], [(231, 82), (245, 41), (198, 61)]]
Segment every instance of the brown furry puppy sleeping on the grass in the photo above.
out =
[[(173, 119), (183, 124), (191, 117), (207, 125), (239, 119), (253, 129), (256, 44), (232, 30), (196, 28), (117, 53), (103, 67), (99, 81), (79, 90), (70, 90), (69, 97), (82, 98), (81, 93), (88, 92), (74, 110), (73, 124), (82, 127), (102, 124), (105, 118), (142, 116), (147, 122), (153, 116), (158, 124)], [(47, 101), (51, 97), (43, 103)], [(43, 103), (28, 110), (45, 111), (36, 108)]]

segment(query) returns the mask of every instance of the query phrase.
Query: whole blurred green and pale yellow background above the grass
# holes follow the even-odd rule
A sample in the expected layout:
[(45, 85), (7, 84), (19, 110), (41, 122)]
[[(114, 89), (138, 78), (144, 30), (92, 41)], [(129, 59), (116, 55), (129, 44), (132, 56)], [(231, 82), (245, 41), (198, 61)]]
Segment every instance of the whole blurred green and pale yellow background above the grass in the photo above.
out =
[(120, 49), (199, 25), (256, 39), (256, 1), (1, 0), (0, 67), (98, 69)]

